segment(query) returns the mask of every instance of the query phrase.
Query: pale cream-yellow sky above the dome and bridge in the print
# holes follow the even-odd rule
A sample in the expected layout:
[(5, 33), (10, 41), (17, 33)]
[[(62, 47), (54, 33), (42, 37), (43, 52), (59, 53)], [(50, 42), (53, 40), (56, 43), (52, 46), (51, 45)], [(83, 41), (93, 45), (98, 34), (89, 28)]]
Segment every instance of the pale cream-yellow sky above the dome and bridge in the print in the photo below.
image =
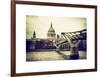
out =
[(80, 17), (55, 17), (26, 15), (26, 38), (30, 39), (36, 32), (37, 38), (47, 38), (47, 32), (51, 26), (56, 34), (61, 32), (73, 32), (86, 28), (87, 19)]

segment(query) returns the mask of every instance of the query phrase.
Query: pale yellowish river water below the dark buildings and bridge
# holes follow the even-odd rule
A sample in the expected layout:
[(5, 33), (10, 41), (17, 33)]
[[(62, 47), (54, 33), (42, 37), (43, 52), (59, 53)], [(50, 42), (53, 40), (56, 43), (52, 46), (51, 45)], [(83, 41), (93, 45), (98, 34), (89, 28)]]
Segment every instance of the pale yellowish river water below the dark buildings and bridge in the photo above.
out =
[[(26, 61), (71, 60), (69, 56), (70, 51), (33, 51), (26, 52)], [(79, 59), (86, 59), (86, 56), (86, 51), (79, 51)]]

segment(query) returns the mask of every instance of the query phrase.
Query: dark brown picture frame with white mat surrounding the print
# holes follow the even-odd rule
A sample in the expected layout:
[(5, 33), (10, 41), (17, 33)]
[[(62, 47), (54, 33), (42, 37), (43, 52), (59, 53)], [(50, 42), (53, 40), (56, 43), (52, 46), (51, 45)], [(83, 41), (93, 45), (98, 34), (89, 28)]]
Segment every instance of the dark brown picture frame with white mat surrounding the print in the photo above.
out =
[[(44, 12), (41, 11), (43, 9), (44, 9)], [(46, 11), (45, 9), (48, 9), (48, 10)], [(32, 10), (34, 10), (35, 12)], [(63, 13), (57, 13), (57, 12), (54, 13), (55, 10), (57, 12), (62, 11)], [(65, 11), (65, 10), (67, 10), (67, 11)], [(75, 10), (77, 12), (75, 12)], [(51, 13), (48, 13), (48, 11)], [(73, 14), (71, 12), (74, 12), (75, 14)], [(66, 15), (66, 14), (68, 14), (68, 15)], [(23, 25), (22, 23), (24, 22), (24, 24), (25, 24), (27, 21), (25, 21), (25, 20), (22, 21), (21, 16), (22, 17), (24, 16), (24, 19), (25, 19), (25, 16), (27, 18), (27, 15), (31, 15), (31, 16), (32, 15), (36, 15), (36, 16), (40, 15), (39, 17), (46, 15), (46, 16), (51, 16), (51, 19), (53, 19), (53, 17), (55, 17), (56, 15), (58, 16), (58, 18), (60, 15), (63, 17), (65, 17), (65, 16), (68, 17), (70, 15), (70, 16), (72, 16), (72, 18), (73, 17), (81, 17), (81, 18), (86, 17), (87, 18), (86, 19), (87, 20), (87, 40), (88, 40), (87, 41), (87, 55), (86, 55), (87, 58), (85, 60), (78, 60), (78, 61), (76, 61), (76, 60), (72, 60), (72, 61), (71, 60), (70, 61), (56, 60), (56, 61), (40, 61), (40, 62), (33, 61), (33, 64), (31, 64), (32, 62), (26, 62), (25, 61), (26, 51), (23, 50), (23, 49), (25, 49), (25, 46), (23, 46), (23, 44), (25, 44), (25, 40), (23, 41), (23, 38), (25, 39), (24, 34), (25, 34), (26, 26)], [(93, 18), (93, 19), (91, 19), (91, 18)], [(18, 20), (20, 20), (20, 22)], [(93, 21), (93, 22), (91, 22), (91, 21)], [(51, 22), (53, 23), (53, 21), (51, 21)], [(21, 26), (24, 26), (24, 27), (21, 27)], [(90, 32), (92, 32), (91, 33), (92, 35), (90, 34)], [(19, 43), (19, 42), (21, 42), (21, 43)], [(90, 42), (92, 42), (92, 43), (90, 43)], [(22, 50), (22, 52), (21, 52), (21, 50)], [(90, 53), (90, 51), (92, 54)], [(23, 53), (25, 53), (24, 56), (22, 56)], [(24, 61), (22, 64), (21, 64), (21, 60)], [(73, 66), (74, 62), (76, 64), (75, 66)], [(84, 67), (81, 62), (84, 63)], [(72, 65), (71, 66), (69, 66), (67, 64), (65, 65), (65, 63), (67, 63), (67, 64), (70, 63)], [(78, 63), (79, 63), (79, 65), (77, 65)], [(26, 65), (24, 65), (24, 64), (26, 64)], [(41, 64), (41, 65), (39, 65), (39, 64)], [(52, 66), (50, 66), (50, 64)], [(55, 67), (54, 64), (57, 67)], [(63, 67), (63, 65), (65, 68)], [(25, 66), (25, 67), (22, 67), (22, 66)], [(32, 66), (35, 66), (35, 67), (32, 67)], [(78, 68), (78, 66), (79, 66), (79, 68)], [(87, 67), (87, 66), (89, 66), (89, 67)], [(93, 71), (97, 71), (97, 6), (96, 5), (34, 2), (34, 1), (19, 1), (19, 0), (11, 1), (11, 77), (46, 75), (46, 74), (61, 74), (61, 73), (93, 72)]]

